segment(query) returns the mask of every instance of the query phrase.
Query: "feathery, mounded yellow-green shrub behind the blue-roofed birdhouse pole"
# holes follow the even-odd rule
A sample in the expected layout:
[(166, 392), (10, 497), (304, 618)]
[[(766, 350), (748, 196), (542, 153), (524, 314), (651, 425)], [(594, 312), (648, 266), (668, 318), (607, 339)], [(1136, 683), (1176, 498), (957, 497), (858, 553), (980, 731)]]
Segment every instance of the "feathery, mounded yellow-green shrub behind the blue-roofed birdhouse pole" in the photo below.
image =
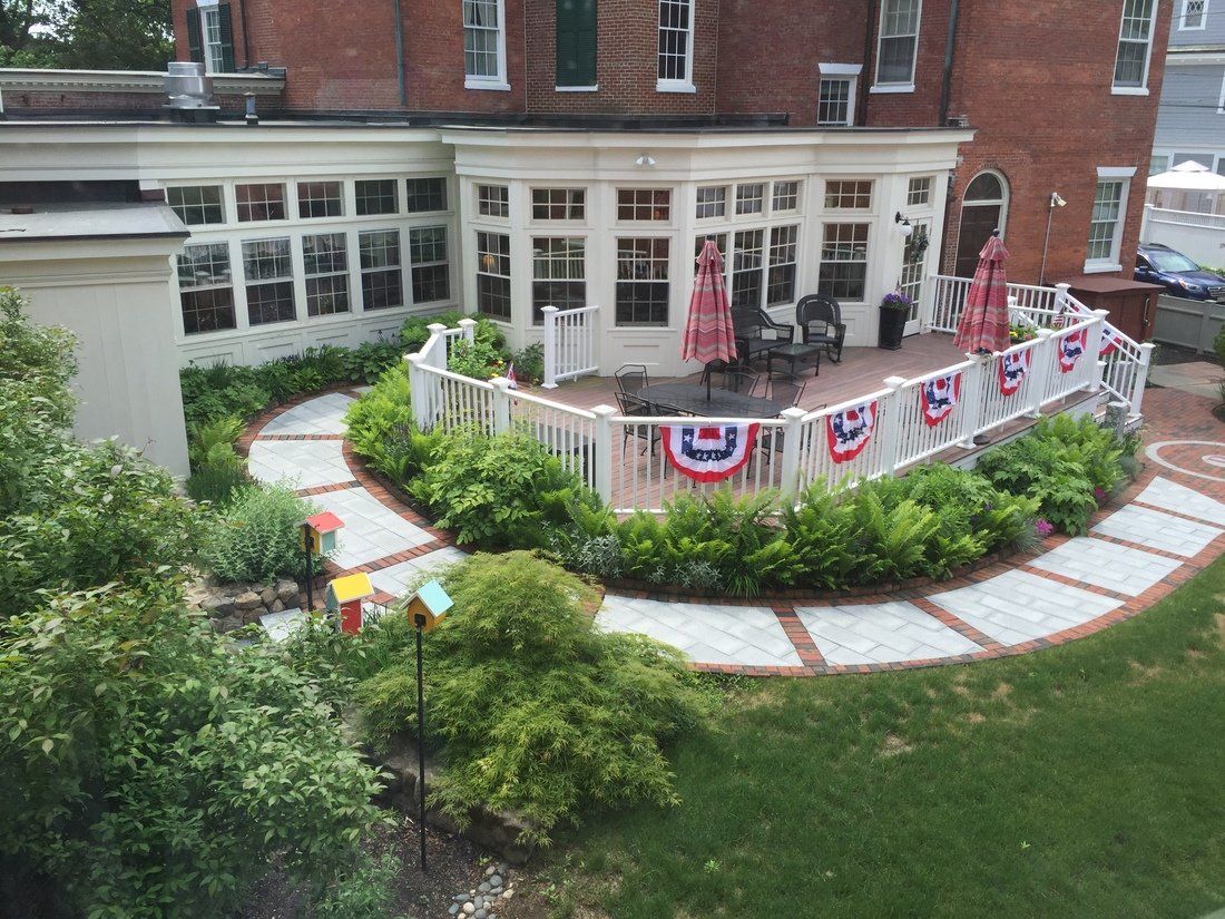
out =
[[(677, 801), (660, 744), (706, 712), (679, 652), (599, 631), (589, 588), (528, 553), (473, 556), (443, 586), (454, 607), (425, 638), (436, 804), (459, 821), (473, 805), (516, 811), (546, 844), (593, 805)], [(415, 670), (407, 621), (380, 629), (403, 651), (358, 697), (390, 736), (415, 723)]]

